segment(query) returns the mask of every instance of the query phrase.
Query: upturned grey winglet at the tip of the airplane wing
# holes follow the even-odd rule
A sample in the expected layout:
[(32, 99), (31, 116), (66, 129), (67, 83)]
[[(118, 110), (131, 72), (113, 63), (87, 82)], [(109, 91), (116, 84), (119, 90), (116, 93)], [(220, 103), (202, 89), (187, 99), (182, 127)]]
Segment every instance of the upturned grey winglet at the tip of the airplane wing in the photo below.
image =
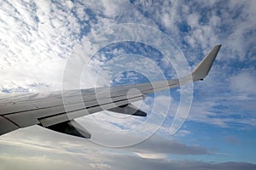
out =
[(205, 77), (207, 77), (207, 74), (211, 70), (212, 63), (216, 58), (220, 47), (221, 45), (219, 44), (212, 48), (212, 51), (201, 60), (199, 65), (195, 67), (195, 70), (192, 72), (193, 82), (203, 80)]

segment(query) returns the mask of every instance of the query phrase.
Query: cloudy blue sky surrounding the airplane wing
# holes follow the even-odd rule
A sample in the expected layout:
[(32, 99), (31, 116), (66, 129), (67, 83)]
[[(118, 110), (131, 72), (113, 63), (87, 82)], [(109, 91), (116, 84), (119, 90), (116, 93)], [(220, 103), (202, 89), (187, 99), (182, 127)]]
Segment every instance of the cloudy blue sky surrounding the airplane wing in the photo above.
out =
[[(0, 137), (0, 168), (255, 169), (255, 8), (253, 0), (4, 0), (2, 94), (175, 78), (177, 69), (193, 70), (214, 45), (221, 43), (222, 48), (208, 77), (194, 83), (189, 115), (174, 135), (170, 127), (180, 94), (187, 92), (183, 88), (148, 95), (137, 103), (148, 112), (146, 119), (106, 111), (80, 118), (78, 122), (92, 133), (91, 140), (36, 126), (5, 134)], [(111, 42), (129, 33), (111, 30), (126, 23), (137, 26), (130, 36), (139, 41), (113, 42), (97, 49), (104, 42), (102, 34)], [(170, 44), (163, 44), (165, 37)], [(77, 59), (76, 67), (67, 65), (72, 59)], [(176, 68), (179, 59), (185, 62)], [(81, 71), (75, 83), (73, 75)], [(147, 129), (132, 131), (143, 122)], [(102, 146), (125, 144), (119, 134), (124, 131), (131, 132), (131, 141), (143, 142), (119, 149)]]

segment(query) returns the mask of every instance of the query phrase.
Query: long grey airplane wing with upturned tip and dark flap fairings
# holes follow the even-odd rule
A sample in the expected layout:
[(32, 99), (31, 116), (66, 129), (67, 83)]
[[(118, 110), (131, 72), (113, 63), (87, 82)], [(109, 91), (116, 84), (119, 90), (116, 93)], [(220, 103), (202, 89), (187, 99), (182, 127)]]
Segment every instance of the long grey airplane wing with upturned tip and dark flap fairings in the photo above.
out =
[(221, 45), (202, 59), (188, 77), (162, 82), (148, 82), (109, 88), (90, 88), (44, 94), (0, 95), (0, 135), (18, 128), (40, 125), (70, 135), (90, 138), (90, 133), (74, 119), (98, 111), (114, 111), (134, 116), (147, 116), (132, 102), (169, 88), (203, 80), (212, 67)]

